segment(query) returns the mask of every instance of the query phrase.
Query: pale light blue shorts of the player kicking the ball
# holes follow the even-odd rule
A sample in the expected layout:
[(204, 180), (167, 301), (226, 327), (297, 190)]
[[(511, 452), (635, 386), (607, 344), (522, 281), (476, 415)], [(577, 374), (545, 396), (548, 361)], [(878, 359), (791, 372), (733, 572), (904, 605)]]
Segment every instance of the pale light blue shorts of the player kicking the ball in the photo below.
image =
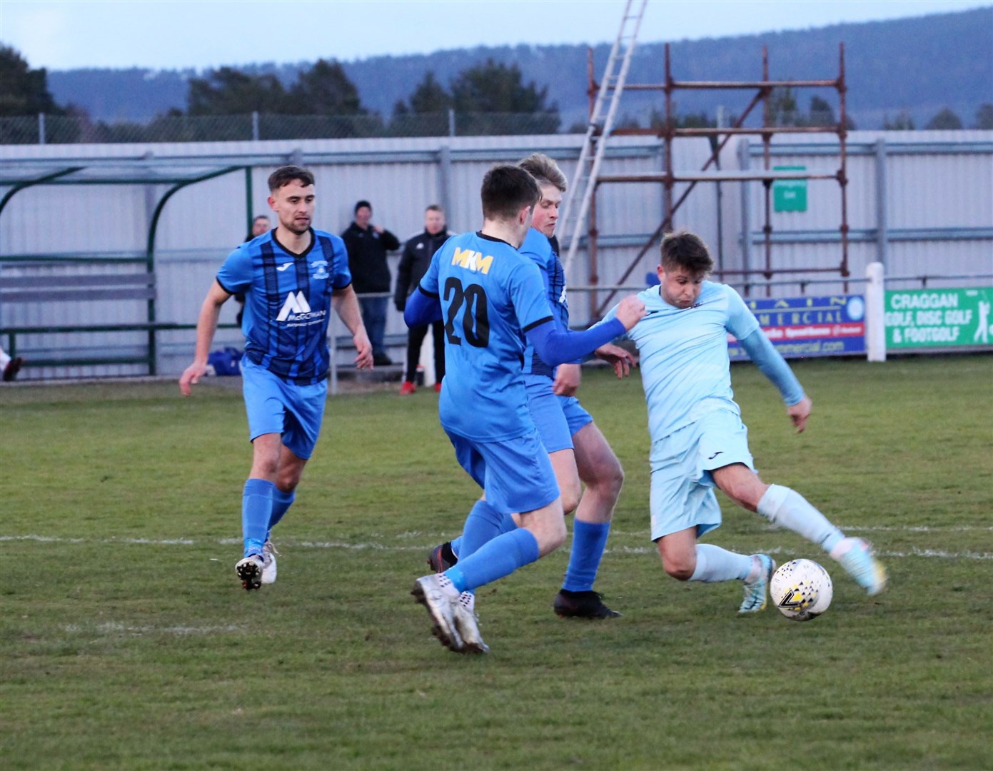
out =
[(711, 471), (743, 463), (755, 471), (748, 429), (726, 409), (704, 415), (651, 445), (651, 540), (696, 528), (696, 537), (721, 524)]

